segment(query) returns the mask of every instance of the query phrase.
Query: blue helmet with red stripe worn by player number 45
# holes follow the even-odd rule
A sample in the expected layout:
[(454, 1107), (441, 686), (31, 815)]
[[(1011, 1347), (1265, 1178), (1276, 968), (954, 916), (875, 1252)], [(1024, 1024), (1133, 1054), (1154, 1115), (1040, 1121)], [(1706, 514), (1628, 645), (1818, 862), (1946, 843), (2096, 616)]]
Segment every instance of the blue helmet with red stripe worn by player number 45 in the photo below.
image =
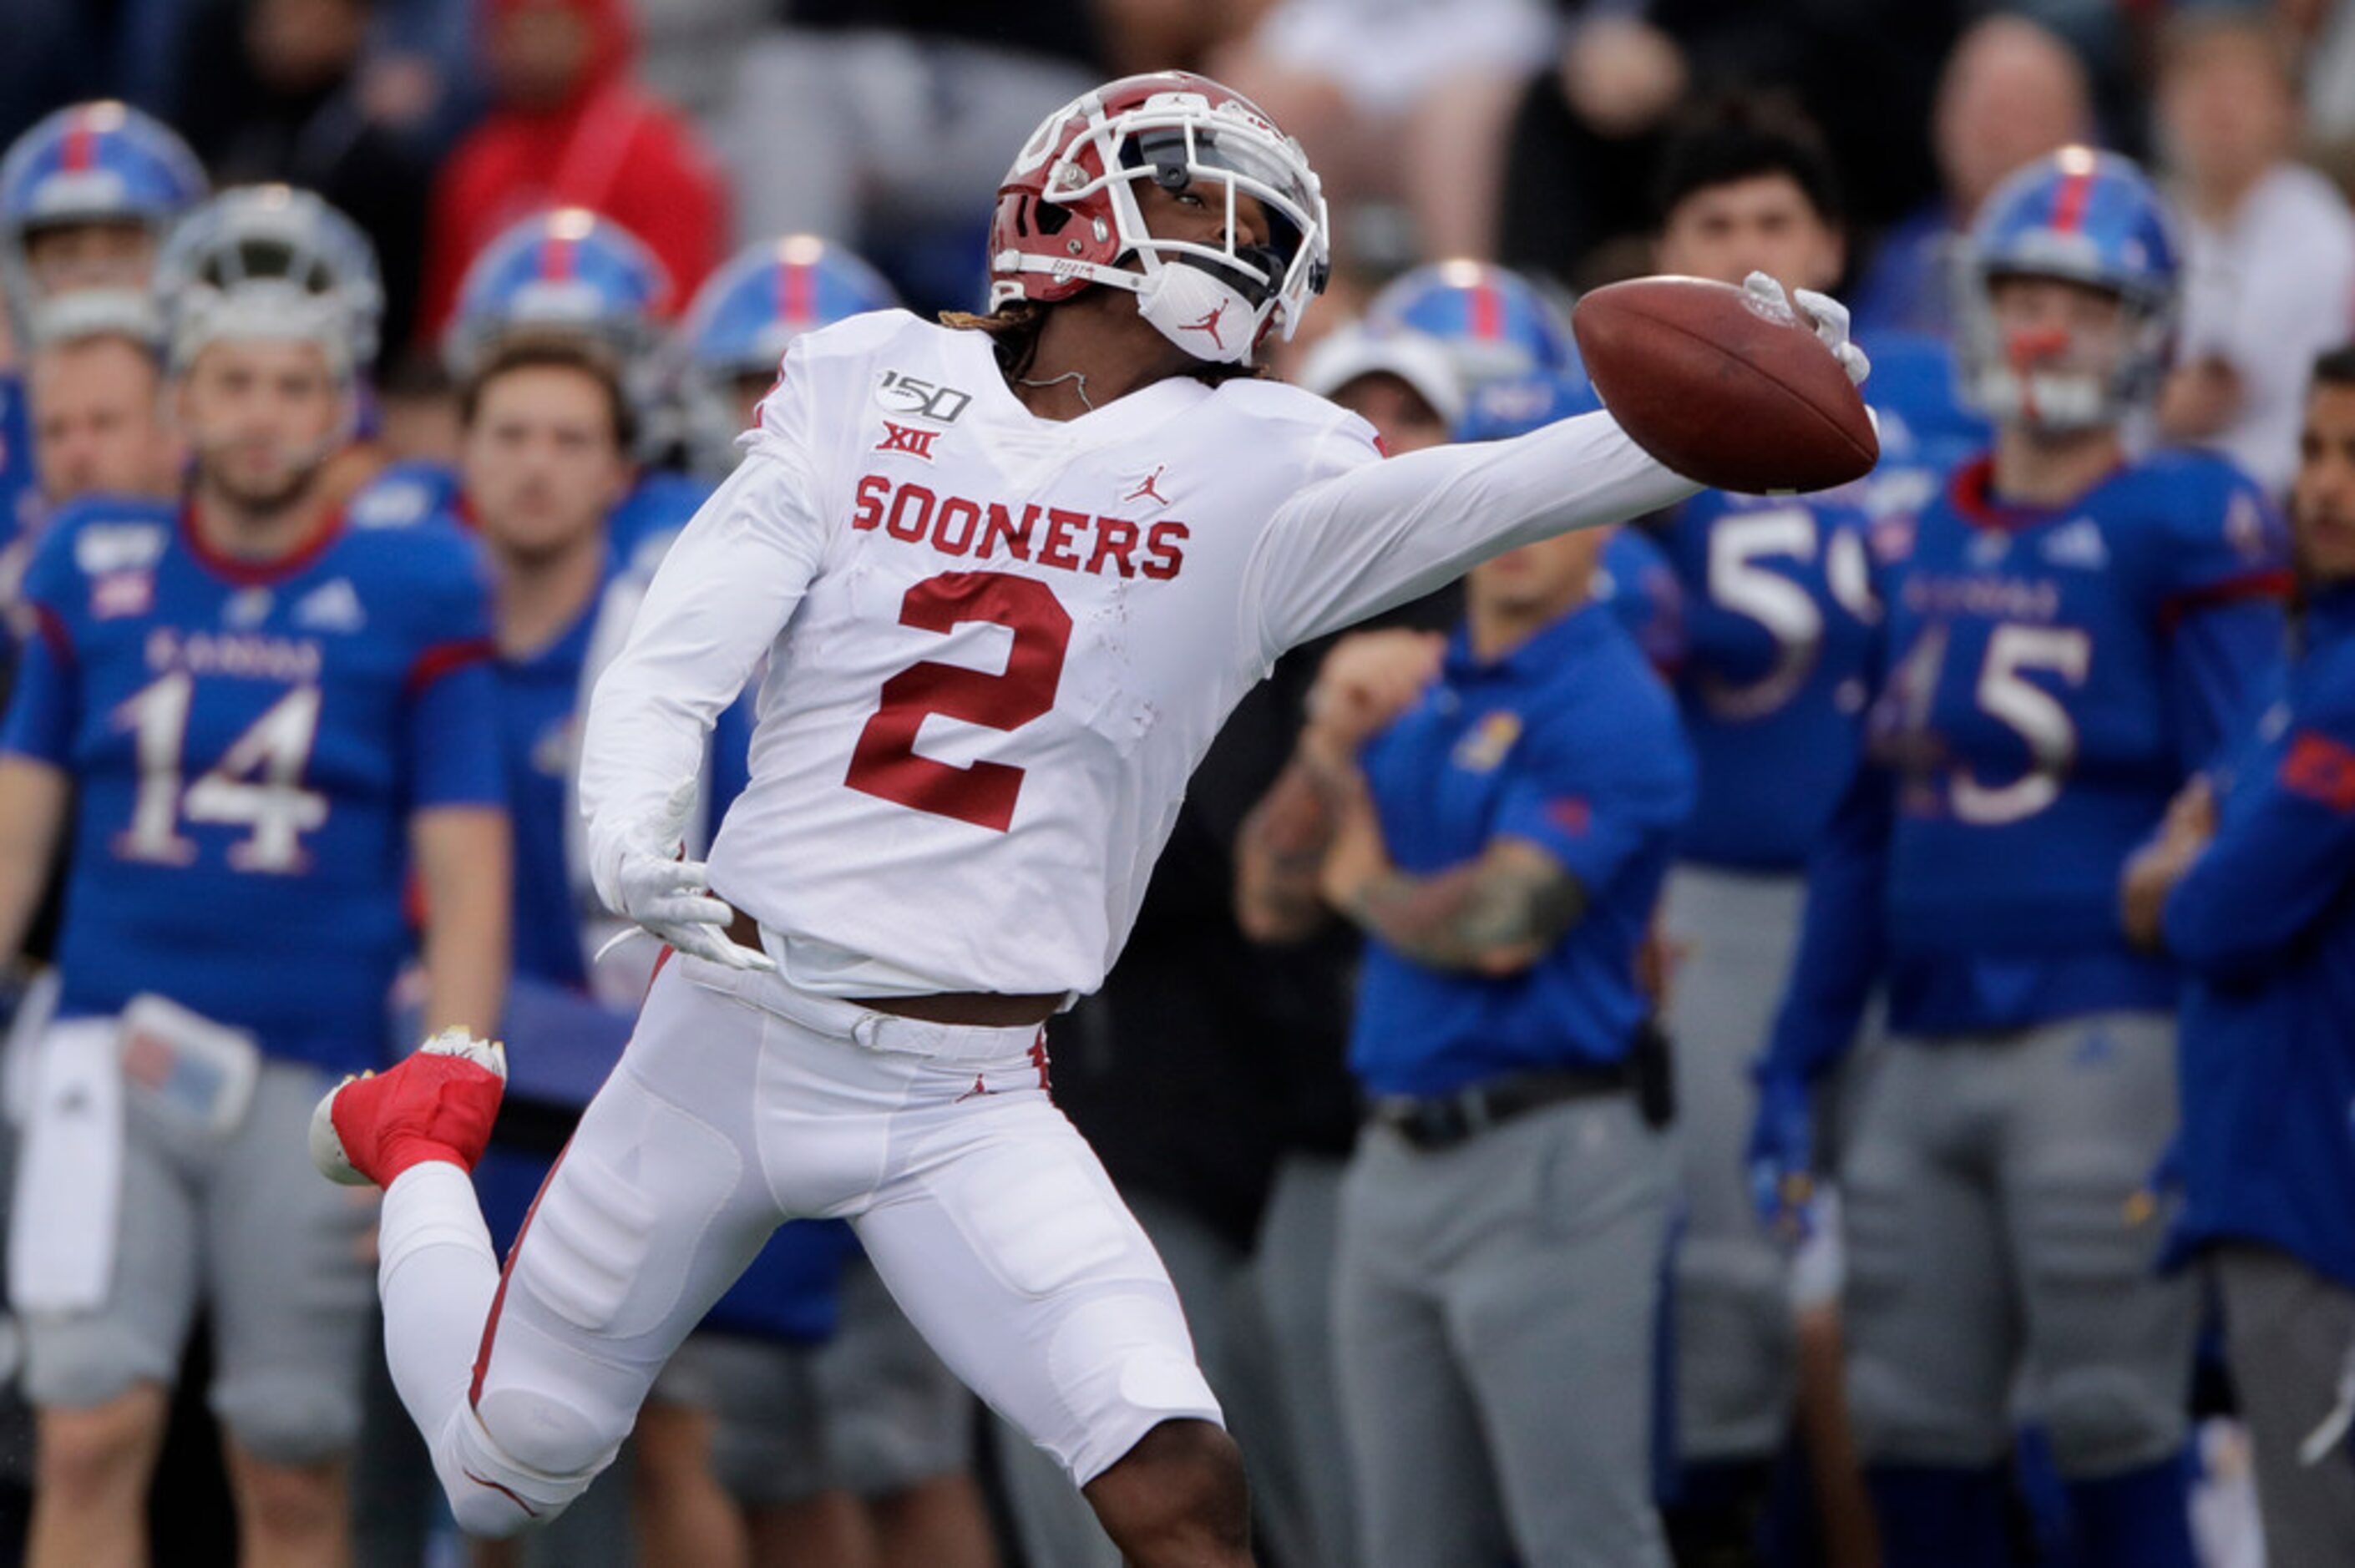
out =
[[(2035, 367), (1995, 323), (2004, 278), (2061, 278), (2120, 299), (2124, 351), (2108, 372)], [(1957, 278), (1957, 374), (1990, 419), (2051, 431), (2122, 421), (2157, 396), (2176, 325), (2183, 250), (2167, 202), (2117, 153), (2065, 146), (2014, 172), (1978, 210)]]

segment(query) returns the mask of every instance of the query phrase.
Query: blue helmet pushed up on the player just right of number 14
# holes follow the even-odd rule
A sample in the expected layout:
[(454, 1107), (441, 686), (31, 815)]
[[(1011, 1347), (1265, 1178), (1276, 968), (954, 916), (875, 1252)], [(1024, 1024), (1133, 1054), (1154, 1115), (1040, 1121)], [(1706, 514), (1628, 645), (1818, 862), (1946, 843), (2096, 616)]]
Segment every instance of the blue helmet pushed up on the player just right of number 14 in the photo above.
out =
[(629, 379), (662, 341), (671, 275), (638, 235), (586, 207), (504, 231), (466, 268), (443, 363), (464, 381), (511, 334), (582, 337)]

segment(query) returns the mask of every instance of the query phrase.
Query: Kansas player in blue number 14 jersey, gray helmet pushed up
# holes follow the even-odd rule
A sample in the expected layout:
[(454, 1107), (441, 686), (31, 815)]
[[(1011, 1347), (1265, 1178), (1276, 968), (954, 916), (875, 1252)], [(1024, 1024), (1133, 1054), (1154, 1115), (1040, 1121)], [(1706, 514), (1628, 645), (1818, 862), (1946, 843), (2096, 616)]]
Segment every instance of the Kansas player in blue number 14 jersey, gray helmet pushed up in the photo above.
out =
[(339, 1561), (367, 1210), (292, 1156), (330, 1071), (382, 1059), (414, 866), (429, 1017), (506, 968), (487, 605), (440, 520), (346, 525), (323, 473), (374, 337), (367, 242), (283, 186), (174, 231), (184, 501), (59, 516), (0, 758), (0, 954), (73, 808), (59, 1022), (9, 1274), (40, 1408), (35, 1563), (137, 1561), (203, 1302), (247, 1552)]

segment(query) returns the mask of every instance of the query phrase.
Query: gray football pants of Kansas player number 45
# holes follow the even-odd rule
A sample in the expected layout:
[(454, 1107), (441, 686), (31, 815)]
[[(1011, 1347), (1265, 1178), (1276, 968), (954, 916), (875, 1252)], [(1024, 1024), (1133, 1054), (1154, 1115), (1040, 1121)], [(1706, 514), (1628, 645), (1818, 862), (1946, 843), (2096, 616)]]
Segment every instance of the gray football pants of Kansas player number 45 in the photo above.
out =
[(2065, 1479), (2171, 1457), (2197, 1297), (2155, 1274), (2145, 1184), (2176, 1130), (2174, 1019), (1898, 1038), (1863, 1092), (1842, 1212), (1865, 1460), (1995, 1464), (2018, 1373)]

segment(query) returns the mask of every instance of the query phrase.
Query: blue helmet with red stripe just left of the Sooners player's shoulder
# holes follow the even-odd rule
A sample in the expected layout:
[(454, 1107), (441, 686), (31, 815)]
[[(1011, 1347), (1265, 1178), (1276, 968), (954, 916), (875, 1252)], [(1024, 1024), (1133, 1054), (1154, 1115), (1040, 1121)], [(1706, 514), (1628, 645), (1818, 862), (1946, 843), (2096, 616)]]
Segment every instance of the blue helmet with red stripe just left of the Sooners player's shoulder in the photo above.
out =
[(796, 233), (747, 245), (688, 306), (678, 381), (699, 466), (723, 471), (742, 431), (737, 384), (775, 379), (803, 332), (900, 304), (883, 273), (841, 245)]

